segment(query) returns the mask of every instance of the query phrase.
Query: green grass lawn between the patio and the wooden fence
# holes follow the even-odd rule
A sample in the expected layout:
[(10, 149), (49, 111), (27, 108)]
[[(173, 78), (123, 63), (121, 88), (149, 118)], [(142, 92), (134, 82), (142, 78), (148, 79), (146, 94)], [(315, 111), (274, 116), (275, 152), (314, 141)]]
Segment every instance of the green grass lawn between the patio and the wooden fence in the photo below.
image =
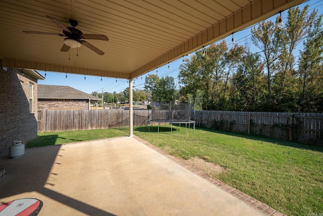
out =
[[(128, 135), (128, 128), (43, 133), (29, 146)], [(323, 213), (323, 148), (169, 125), (134, 127), (134, 135), (170, 154), (198, 156), (226, 168), (217, 179), (287, 215)], [(47, 138), (46, 138), (47, 137)], [(38, 139), (41, 142), (38, 142)]]

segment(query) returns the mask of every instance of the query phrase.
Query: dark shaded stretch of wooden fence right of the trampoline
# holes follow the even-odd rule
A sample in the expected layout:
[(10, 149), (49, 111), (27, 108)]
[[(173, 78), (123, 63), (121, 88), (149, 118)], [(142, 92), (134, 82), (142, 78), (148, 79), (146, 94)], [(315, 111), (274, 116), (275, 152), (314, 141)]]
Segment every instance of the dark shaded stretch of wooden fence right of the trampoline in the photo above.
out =
[(199, 127), (323, 146), (323, 113), (196, 111)]

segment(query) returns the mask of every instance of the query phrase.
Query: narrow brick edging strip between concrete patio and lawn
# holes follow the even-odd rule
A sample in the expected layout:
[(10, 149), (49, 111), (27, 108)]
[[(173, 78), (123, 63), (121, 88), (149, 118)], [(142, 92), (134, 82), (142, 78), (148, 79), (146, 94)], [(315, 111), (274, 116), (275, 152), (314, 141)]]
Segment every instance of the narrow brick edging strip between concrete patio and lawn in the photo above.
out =
[(286, 216), (286, 214), (283, 214), (279, 211), (277, 211), (276, 209), (252, 198), (251, 196), (242, 193), (241, 191), (231, 187), (230, 185), (227, 185), (225, 183), (223, 183), (222, 181), (206, 174), (202, 169), (189, 164), (188, 162), (186, 162), (184, 159), (179, 158), (179, 157), (175, 157), (173, 155), (170, 155), (169, 153), (159, 149), (158, 147), (144, 141), (143, 139), (133, 136), (133, 138), (135, 138), (136, 140), (140, 141), (141, 143), (145, 144), (146, 146), (148, 146), (149, 148), (159, 152), (160, 154), (163, 154), (164, 156), (170, 158), (171, 160), (173, 160), (174, 162), (178, 163), (179, 165), (187, 168), (188, 170), (190, 170), (191, 172), (193, 172), (194, 174), (198, 175), (199, 177), (207, 180), (208, 182), (218, 186), (219, 188), (221, 188), (222, 190), (226, 191), (227, 193), (231, 194), (232, 196), (237, 197), (238, 199), (242, 200), (243, 202), (245, 202), (246, 204), (266, 213), (268, 216)]

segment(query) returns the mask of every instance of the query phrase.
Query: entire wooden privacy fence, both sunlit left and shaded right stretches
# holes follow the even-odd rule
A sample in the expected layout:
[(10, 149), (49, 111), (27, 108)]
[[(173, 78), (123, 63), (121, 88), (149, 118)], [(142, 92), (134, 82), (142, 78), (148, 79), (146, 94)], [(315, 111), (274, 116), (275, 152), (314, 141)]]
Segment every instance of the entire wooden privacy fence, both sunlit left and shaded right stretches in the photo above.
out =
[[(145, 126), (151, 110), (133, 110)], [(163, 115), (161, 113), (160, 115)], [(196, 126), (323, 146), (323, 113), (192, 111)], [(129, 110), (39, 110), (38, 132), (129, 127)]]

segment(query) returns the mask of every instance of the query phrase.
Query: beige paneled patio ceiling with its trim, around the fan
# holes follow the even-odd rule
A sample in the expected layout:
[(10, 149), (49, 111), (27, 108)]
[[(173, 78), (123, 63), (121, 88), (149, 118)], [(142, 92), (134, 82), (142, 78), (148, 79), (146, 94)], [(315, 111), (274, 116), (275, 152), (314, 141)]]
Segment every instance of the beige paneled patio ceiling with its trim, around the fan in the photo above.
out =
[[(216, 42), (304, 0), (0, 0), (0, 58), (3, 67), (117, 78), (135, 78)], [(64, 38), (22, 31), (63, 33), (77, 20), (86, 39), (61, 52)]]

